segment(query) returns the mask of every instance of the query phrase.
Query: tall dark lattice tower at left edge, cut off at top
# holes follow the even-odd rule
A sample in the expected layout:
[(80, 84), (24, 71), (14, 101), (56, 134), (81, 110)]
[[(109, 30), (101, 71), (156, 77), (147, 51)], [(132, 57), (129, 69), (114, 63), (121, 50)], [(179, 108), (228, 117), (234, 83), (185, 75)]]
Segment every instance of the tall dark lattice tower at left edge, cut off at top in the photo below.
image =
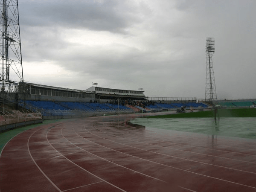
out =
[(23, 82), (18, 0), (0, 0), (0, 12), (0, 96), (3, 104), (8, 99), (17, 105), (18, 82)]

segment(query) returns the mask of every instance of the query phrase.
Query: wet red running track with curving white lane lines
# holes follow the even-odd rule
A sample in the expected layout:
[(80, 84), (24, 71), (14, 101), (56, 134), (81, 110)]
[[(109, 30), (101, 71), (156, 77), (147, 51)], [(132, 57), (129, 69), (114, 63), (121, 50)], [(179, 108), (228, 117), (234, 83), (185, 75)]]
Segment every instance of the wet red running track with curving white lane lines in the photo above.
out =
[(134, 128), (132, 117), (18, 134), (0, 156), (0, 191), (256, 191), (254, 140)]

